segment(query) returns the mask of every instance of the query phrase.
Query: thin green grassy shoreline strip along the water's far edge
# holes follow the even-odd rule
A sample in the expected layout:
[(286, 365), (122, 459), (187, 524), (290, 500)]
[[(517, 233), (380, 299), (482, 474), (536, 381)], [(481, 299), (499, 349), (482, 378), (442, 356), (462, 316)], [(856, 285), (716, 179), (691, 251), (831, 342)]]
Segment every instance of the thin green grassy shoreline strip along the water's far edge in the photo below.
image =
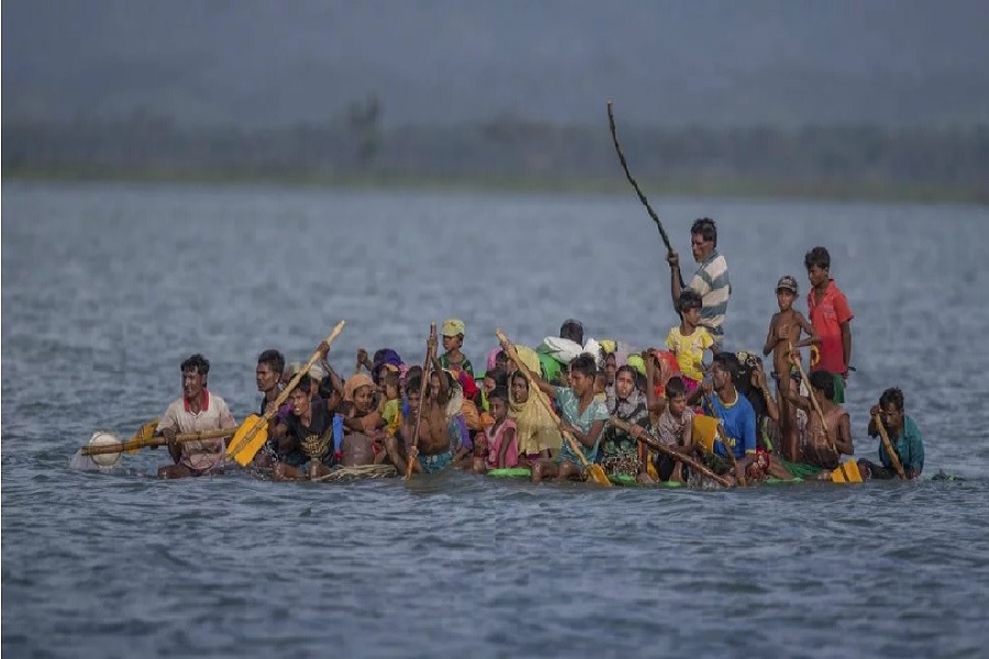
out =
[[(443, 177), (411, 174), (360, 174), (353, 176), (321, 172), (238, 172), (175, 171), (114, 168), (30, 168), (4, 166), (4, 181), (62, 182), (145, 182), (175, 185), (277, 185), (331, 189), (415, 189), (435, 191), (477, 191), (505, 193), (587, 192), (601, 194), (634, 192), (619, 171), (613, 180), (600, 178), (549, 178), (464, 176)], [(740, 199), (790, 199), (807, 201), (862, 201), (893, 203), (960, 203), (989, 205), (989, 191), (952, 186), (904, 186), (868, 183), (803, 185), (764, 180), (649, 181), (640, 180), (646, 196), (722, 197)]]

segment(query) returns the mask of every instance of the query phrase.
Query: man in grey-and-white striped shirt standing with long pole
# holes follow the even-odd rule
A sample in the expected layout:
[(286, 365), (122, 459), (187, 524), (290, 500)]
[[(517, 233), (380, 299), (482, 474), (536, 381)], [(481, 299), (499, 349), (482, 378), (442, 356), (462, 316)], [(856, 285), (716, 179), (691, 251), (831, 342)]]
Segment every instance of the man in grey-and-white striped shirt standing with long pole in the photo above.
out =
[[(729, 281), (727, 261), (718, 253), (718, 226), (710, 217), (694, 221), (690, 227), (690, 248), (693, 260), (699, 264), (697, 272), (690, 279), (690, 287), (701, 297), (701, 325), (708, 328), (714, 338), (715, 351), (724, 346), (724, 314), (732, 294)], [(680, 257), (670, 252), (666, 257), (670, 269), (670, 292), (674, 309), (680, 300), (680, 291), (687, 288), (680, 272)]]

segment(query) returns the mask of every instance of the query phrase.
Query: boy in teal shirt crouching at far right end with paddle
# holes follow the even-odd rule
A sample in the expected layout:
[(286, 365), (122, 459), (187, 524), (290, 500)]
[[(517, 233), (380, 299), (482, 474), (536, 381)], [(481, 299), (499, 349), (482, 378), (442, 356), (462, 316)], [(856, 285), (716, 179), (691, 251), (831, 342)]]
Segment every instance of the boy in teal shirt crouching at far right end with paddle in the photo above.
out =
[[(879, 435), (876, 427), (876, 415), (882, 421), (889, 443), (892, 445), (900, 465), (907, 478), (919, 478), (924, 470), (924, 438), (913, 418), (903, 414), (903, 392), (898, 388), (887, 389), (879, 396), (879, 404), (869, 410), (869, 437)], [(892, 459), (886, 450), (886, 446), (879, 445), (879, 462), (868, 460), (858, 461), (858, 470), (863, 478), (890, 479), (896, 478)]]

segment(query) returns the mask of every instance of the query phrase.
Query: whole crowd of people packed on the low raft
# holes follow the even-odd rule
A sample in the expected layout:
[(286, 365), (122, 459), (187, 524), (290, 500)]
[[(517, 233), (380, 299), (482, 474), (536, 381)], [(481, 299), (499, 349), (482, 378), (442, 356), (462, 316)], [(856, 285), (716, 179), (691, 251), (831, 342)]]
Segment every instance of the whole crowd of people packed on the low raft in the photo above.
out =
[[(779, 311), (763, 346), (771, 359), (767, 376), (759, 355), (723, 349), (732, 289), (714, 221), (700, 219), (690, 233), (698, 267), (688, 282), (679, 256), (667, 257), (680, 322), (658, 348), (586, 337), (584, 325), (570, 319), (535, 348), (503, 342), (476, 372), (463, 351), (464, 322), (448, 319), (440, 332), (442, 353), (441, 337), (429, 338), (425, 370), (391, 348), (373, 355), (362, 349), (354, 373), (343, 378), (322, 344), (319, 362), (300, 373), (301, 365), (287, 365), (279, 350), (264, 350), (256, 380), (268, 439), (252, 468), (275, 479), (303, 479), (368, 465), (390, 465), (398, 473), (527, 467), (540, 481), (584, 479), (587, 465), (600, 465), (610, 478), (642, 483), (701, 479), (679, 455), (738, 483), (829, 478), (843, 455), (854, 454), (842, 406), (854, 316), (831, 277), (827, 249), (813, 247), (804, 258), (807, 315), (793, 308), (796, 278), (777, 282)], [(809, 376), (801, 348), (810, 349)], [(163, 478), (223, 469), (223, 440), (175, 439), (237, 426), (208, 388), (209, 368), (201, 355), (181, 364), (182, 395), (156, 431), (174, 461), (159, 470)], [(907, 478), (921, 474), (923, 439), (899, 389), (882, 392), (867, 431), (887, 434), (894, 455), (880, 446), (878, 462), (858, 460), (863, 476), (894, 478), (900, 466)], [(673, 450), (654, 454), (642, 439)]]

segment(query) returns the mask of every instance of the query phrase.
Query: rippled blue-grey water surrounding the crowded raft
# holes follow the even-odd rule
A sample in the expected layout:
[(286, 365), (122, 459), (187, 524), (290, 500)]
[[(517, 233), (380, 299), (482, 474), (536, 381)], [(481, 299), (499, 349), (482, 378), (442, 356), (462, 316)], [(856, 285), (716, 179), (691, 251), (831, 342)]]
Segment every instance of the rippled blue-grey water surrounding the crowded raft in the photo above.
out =
[[(568, 316), (658, 345), (676, 322), (634, 197), (3, 186), (2, 644), (27, 656), (985, 656), (989, 211), (655, 199), (681, 253), (720, 223), (727, 342), (762, 347), (784, 273), (824, 244), (853, 310), (857, 454), (900, 386), (926, 472), (964, 482), (597, 490), (459, 473), (159, 482), (129, 436), (204, 353), (237, 417), (257, 353), (340, 319), (421, 361), (431, 321), (529, 345)], [(977, 302), (981, 300), (981, 302)]]

